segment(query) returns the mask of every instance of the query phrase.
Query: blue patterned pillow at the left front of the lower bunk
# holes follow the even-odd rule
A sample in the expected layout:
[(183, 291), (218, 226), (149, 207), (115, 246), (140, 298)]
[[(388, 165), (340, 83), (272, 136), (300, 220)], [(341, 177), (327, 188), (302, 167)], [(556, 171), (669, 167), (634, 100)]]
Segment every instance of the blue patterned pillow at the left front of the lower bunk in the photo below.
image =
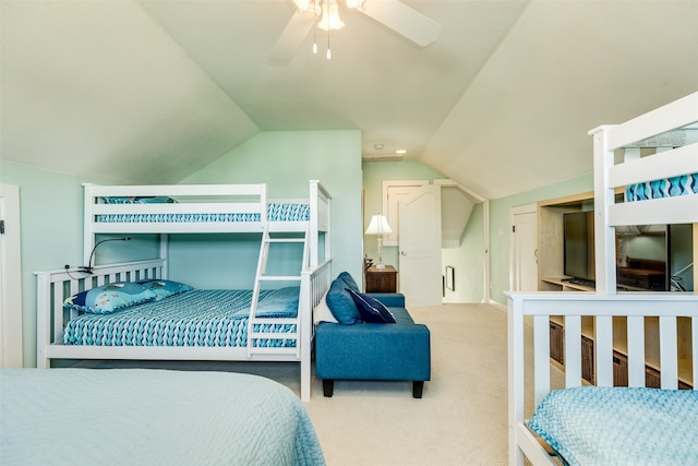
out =
[(63, 306), (92, 314), (108, 314), (155, 298), (153, 291), (137, 283), (115, 282), (73, 295), (65, 299)]

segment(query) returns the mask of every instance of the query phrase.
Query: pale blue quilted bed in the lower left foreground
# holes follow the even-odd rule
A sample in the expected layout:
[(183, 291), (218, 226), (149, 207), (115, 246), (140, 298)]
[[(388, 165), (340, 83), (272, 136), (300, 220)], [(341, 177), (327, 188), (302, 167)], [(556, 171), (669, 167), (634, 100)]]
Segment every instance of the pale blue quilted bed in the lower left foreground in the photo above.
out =
[(324, 465), (308, 413), (256, 375), (0, 369), (2, 465)]

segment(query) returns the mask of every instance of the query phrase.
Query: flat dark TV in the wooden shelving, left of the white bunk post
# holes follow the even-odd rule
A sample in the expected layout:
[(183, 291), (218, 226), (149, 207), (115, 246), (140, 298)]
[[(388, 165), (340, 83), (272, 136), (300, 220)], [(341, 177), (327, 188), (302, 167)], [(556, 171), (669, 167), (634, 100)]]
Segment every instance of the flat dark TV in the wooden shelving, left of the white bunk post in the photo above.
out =
[(593, 212), (564, 214), (563, 231), (563, 273), (568, 277), (593, 282), (595, 278)]

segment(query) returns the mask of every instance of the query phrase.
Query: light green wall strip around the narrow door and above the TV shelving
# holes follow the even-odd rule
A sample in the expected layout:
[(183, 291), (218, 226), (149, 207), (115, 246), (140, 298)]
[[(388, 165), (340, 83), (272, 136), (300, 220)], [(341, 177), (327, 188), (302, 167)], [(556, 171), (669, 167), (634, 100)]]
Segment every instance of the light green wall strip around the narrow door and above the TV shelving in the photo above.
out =
[(593, 176), (585, 175), (561, 183), (490, 201), (491, 299), (505, 306), (509, 289), (509, 210), (538, 201), (593, 190)]

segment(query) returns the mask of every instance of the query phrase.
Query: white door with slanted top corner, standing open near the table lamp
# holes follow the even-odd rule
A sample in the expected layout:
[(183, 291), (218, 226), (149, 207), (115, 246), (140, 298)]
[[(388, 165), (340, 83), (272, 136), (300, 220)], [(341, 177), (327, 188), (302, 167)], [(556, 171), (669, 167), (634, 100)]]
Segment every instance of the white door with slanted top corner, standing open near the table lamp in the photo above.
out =
[(399, 202), (399, 279), (408, 307), (442, 303), (441, 187), (426, 186)]

